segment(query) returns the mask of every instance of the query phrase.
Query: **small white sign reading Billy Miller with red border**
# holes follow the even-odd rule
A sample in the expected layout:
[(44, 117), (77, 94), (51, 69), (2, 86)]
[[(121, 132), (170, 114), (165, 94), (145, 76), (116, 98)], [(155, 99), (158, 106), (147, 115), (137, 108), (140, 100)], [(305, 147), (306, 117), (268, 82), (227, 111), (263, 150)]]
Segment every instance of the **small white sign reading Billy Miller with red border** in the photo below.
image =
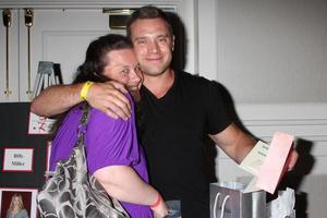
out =
[(33, 172), (33, 147), (4, 147), (2, 171)]

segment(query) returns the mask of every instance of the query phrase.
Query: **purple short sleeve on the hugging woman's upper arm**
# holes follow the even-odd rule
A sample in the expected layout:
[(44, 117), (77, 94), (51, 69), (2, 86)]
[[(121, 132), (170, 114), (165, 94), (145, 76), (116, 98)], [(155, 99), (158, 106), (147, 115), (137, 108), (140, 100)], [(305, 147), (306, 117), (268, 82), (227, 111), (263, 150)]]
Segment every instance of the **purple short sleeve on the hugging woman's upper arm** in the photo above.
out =
[(112, 119), (92, 109), (85, 138), (89, 173), (108, 166), (134, 166), (140, 162), (133, 122), (133, 119)]

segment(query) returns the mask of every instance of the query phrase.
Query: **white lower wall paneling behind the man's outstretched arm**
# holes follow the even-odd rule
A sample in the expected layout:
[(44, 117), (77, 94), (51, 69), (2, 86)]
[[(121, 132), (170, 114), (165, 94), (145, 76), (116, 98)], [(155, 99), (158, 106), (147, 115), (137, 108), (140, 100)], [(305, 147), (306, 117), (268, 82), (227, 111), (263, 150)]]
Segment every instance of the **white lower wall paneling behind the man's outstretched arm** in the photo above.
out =
[[(301, 167), (296, 169), (296, 194), (304, 196), (308, 218), (325, 217), (327, 209), (327, 104), (239, 105), (239, 117), (246, 129), (266, 143), (275, 131), (295, 136)], [(300, 152), (301, 150), (301, 152)], [(250, 175), (220, 149), (216, 158), (219, 180), (233, 181)], [(299, 202), (300, 203), (300, 202)], [(303, 203), (303, 202), (302, 202)], [(301, 204), (302, 204), (301, 203)]]

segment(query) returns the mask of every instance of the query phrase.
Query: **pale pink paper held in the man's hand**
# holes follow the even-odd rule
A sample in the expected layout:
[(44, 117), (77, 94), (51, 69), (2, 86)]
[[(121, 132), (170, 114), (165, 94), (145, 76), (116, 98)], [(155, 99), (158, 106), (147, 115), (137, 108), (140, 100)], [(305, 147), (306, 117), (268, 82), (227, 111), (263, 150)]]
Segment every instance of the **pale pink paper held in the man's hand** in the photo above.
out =
[(259, 169), (256, 186), (274, 194), (294, 136), (281, 132), (274, 134), (265, 162)]

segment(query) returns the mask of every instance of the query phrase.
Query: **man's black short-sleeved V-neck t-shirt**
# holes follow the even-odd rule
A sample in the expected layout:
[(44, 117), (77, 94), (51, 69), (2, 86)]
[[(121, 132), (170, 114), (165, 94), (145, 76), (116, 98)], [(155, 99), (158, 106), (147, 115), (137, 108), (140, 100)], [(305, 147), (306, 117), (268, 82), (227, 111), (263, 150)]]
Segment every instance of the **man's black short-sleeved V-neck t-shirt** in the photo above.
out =
[(205, 138), (231, 121), (219, 85), (175, 72), (167, 94), (157, 98), (141, 89), (138, 132), (148, 160), (149, 179), (165, 201), (180, 199), (182, 217), (209, 217), (209, 177)]

